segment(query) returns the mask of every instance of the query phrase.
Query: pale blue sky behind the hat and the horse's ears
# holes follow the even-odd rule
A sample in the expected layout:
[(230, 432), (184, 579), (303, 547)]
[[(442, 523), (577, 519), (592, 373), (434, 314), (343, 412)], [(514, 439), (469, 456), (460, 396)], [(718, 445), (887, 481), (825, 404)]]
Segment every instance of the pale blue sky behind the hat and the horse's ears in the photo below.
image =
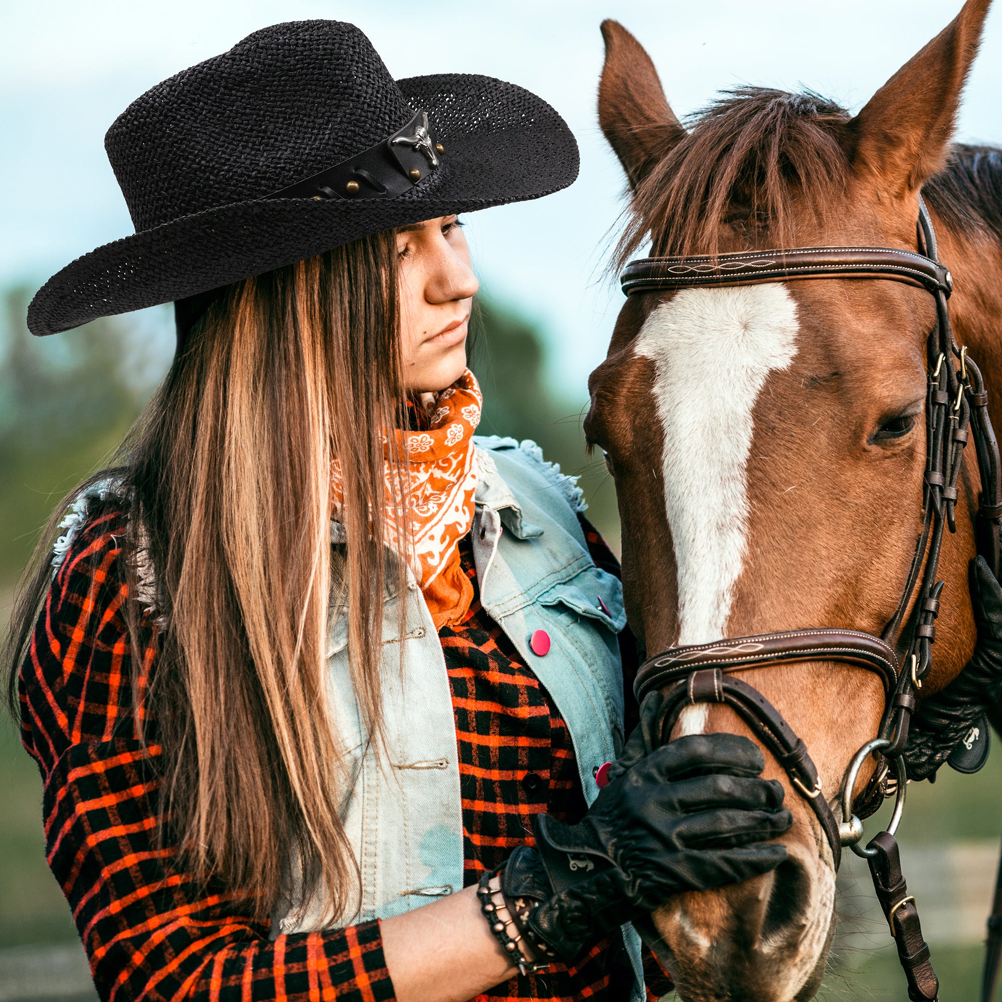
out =
[[(959, 0), (33, 0), (0, 3), (0, 285), (40, 285), (132, 231), (103, 135), (143, 90), (277, 21), (353, 21), (398, 77), (457, 71), (550, 101), (581, 146), (565, 191), (468, 217), (485, 287), (550, 334), (554, 378), (579, 396), (602, 358), (618, 291), (602, 268), (622, 177), (598, 130), (598, 25), (651, 53), (669, 102), (693, 111), (740, 83), (808, 86), (861, 106), (960, 9)], [(959, 136), (1002, 142), (1002, 12), (989, 18)], [(165, 312), (144, 318), (155, 330)]]

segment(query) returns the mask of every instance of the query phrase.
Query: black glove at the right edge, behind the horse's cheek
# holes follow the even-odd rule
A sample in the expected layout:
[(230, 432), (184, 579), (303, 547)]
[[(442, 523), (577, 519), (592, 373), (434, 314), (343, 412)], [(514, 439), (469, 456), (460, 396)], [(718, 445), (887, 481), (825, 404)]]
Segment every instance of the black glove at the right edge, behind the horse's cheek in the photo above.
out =
[(985, 727), (986, 710), (1002, 695), (1002, 586), (984, 557), (971, 561), (970, 578), (978, 642), (960, 674), (924, 699), (912, 717), (905, 747), (905, 767), (911, 780), (928, 779), (972, 726), (981, 721)]

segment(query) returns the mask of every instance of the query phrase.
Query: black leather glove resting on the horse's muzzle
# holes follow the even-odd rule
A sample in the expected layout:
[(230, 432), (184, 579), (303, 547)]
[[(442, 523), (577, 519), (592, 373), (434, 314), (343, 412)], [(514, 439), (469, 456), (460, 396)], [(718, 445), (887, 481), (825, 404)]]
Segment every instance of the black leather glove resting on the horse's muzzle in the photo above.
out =
[(502, 891), (537, 951), (574, 960), (672, 895), (747, 880), (787, 858), (766, 842), (793, 818), (783, 787), (758, 779), (758, 745), (697, 734), (644, 756), (644, 744), (637, 728), (579, 824), (537, 816), (536, 848), (509, 858)]

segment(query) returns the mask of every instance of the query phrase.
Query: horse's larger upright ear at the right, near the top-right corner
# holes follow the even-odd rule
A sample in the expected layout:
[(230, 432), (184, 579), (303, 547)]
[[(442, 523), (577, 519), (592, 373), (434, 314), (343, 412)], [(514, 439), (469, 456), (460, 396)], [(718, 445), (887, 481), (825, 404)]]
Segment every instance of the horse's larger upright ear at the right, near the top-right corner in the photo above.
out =
[(990, 5), (991, 0), (967, 0), (849, 123), (858, 176), (904, 196), (943, 167)]

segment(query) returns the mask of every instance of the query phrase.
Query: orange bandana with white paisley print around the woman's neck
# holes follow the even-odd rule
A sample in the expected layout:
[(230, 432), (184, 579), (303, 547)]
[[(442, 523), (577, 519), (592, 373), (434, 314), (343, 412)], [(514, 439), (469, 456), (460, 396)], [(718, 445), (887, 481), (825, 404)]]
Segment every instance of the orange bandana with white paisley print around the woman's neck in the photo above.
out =
[[(473, 584), (463, 573), (459, 541), (473, 525), (477, 469), (473, 433), (480, 422), (483, 397), (469, 369), (428, 408), (428, 431), (407, 436), (411, 520), (409, 562), (421, 584), (436, 629), (460, 622), (473, 601)], [(398, 439), (399, 440), (399, 439)], [(341, 498), (340, 467), (334, 464), (334, 496)], [(387, 475), (387, 497), (392, 497)], [(403, 552), (387, 520), (387, 542)]]

